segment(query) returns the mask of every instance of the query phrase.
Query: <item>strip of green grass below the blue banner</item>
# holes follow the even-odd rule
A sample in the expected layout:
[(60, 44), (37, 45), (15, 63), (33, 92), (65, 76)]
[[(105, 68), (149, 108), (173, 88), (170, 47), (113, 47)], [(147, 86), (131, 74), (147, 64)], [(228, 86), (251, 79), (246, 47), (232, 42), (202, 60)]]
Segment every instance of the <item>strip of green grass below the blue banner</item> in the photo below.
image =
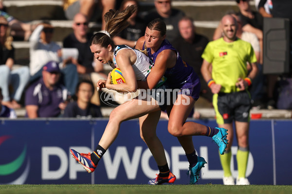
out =
[(292, 194), (292, 185), (0, 185), (0, 194)]

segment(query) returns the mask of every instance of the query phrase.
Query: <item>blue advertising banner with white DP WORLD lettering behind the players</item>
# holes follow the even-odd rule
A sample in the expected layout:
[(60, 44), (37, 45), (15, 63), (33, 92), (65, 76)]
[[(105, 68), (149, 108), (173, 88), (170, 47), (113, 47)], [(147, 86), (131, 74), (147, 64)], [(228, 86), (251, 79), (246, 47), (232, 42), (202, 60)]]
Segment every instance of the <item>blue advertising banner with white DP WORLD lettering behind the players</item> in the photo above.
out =
[[(215, 120), (194, 120), (217, 127)], [(98, 145), (107, 119), (100, 120), (1, 120), (0, 184), (147, 184), (158, 173), (146, 144), (140, 138), (137, 119), (121, 124), (94, 173), (88, 174), (70, 154), (92, 152)], [(292, 120), (252, 120), (250, 154), (246, 175), (251, 184), (291, 184), (292, 154), (289, 137)], [(161, 120), (157, 135), (164, 145), (175, 184), (188, 184), (188, 162), (176, 137)], [(212, 138), (194, 136), (197, 155), (208, 162), (198, 184), (222, 184), (223, 171), (217, 145)], [(233, 176), (237, 177), (237, 142), (232, 146)]]

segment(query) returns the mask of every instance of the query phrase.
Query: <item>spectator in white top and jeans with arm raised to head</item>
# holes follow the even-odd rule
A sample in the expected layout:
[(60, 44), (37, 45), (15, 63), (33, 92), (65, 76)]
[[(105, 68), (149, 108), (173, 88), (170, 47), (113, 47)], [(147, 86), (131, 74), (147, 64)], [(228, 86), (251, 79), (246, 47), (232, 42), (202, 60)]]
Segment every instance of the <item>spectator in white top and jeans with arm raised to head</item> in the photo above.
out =
[[(48, 21), (38, 24), (32, 33), (30, 43), (30, 82), (38, 80), (42, 76), (42, 67), (49, 61), (62, 62), (61, 47), (53, 41), (54, 27)], [(78, 83), (76, 66), (73, 64), (61, 64), (61, 81), (71, 95), (75, 94)]]

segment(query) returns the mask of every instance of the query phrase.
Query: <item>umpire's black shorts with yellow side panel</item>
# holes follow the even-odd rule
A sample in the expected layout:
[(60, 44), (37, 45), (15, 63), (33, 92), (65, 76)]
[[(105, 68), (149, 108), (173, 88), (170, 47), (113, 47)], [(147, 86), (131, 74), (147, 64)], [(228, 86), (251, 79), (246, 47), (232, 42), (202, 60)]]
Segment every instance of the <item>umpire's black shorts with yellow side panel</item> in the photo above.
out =
[(251, 97), (247, 91), (214, 94), (213, 106), (218, 124), (249, 122)]

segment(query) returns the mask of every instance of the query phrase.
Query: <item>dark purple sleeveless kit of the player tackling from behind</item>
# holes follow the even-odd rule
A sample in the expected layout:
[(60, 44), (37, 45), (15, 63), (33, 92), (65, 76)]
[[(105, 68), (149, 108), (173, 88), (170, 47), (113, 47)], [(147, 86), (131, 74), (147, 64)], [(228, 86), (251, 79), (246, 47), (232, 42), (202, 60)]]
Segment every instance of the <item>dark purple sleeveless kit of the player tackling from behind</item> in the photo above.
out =
[[(144, 46), (143, 46), (143, 49)], [(180, 56), (179, 52), (164, 39), (159, 49), (151, 54), (151, 49), (147, 48), (148, 57), (152, 59), (154, 66), (157, 55), (165, 49), (174, 50), (177, 53), (177, 62), (172, 68), (167, 68), (164, 76), (167, 78), (166, 82), (169, 83), (172, 89), (189, 89), (190, 95), (194, 99), (199, 98), (201, 83), (199, 76), (194, 72), (194, 69), (185, 63)]]

